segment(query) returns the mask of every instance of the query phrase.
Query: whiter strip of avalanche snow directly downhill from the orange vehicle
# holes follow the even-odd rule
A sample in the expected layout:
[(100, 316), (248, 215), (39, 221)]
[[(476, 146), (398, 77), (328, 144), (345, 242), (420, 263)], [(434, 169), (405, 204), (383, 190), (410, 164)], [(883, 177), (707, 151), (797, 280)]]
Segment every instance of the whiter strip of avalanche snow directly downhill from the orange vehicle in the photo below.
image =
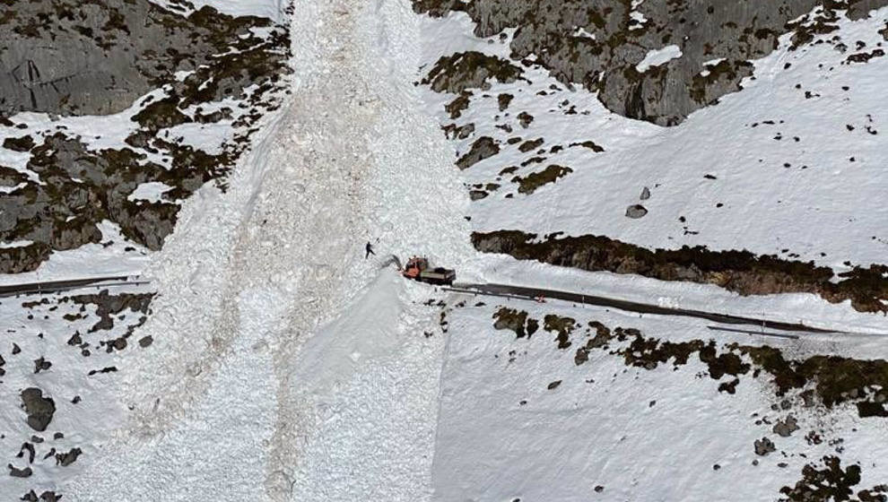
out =
[(444, 341), (422, 335), (433, 310), (408, 303), (389, 270), (302, 349), (293, 500), (429, 498)]

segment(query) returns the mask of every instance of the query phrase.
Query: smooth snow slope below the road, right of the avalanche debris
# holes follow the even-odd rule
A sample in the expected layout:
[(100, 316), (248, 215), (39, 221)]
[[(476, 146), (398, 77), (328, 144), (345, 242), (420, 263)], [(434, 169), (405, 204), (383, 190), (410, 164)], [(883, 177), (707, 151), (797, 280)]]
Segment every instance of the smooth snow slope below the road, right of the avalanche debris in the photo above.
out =
[[(612, 329), (636, 327), (676, 342), (710, 336), (706, 322), (687, 319), (639, 318), (557, 302), (494, 305), (524, 309), (536, 319), (557, 314)], [(742, 378), (731, 395), (719, 393), (709, 376), (695, 376), (706, 371), (696, 358), (677, 370), (672, 364), (646, 370), (593, 351), (578, 366), (573, 357), (579, 336), (565, 351), (557, 350), (554, 334), (542, 329), (529, 340), (516, 340), (515, 333), (492, 328), (490, 310), (466, 307), (451, 314), (451, 329), (459, 335), (450, 338), (442, 375), (436, 500), (769, 500), (780, 487), (792, 485), (806, 463), (834, 453), (825, 441), (807, 446), (804, 436), (839, 416), (832, 433), (846, 438), (845, 455), (863, 466), (866, 479), (859, 488), (881, 482), (888, 453), (878, 439), (884, 426), (864, 427), (862, 420), (845, 418), (854, 411), (834, 411), (829, 418), (796, 411), (801, 430), (776, 437), (770, 424), (756, 426), (751, 418), (759, 413), (772, 424), (779, 416), (769, 407), (767, 379)], [(721, 341), (753, 342), (730, 334)], [(834, 347), (834, 342), (768, 342), (796, 355)], [(881, 342), (858, 352), (875, 348), (884, 354)], [(561, 385), (547, 389), (558, 380)], [(763, 436), (772, 437), (787, 455), (753, 454), (753, 441)], [(808, 458), (794, 453), (799, 451)], [(596, 486), (604, 487), (600, 495), (593, 491)]]

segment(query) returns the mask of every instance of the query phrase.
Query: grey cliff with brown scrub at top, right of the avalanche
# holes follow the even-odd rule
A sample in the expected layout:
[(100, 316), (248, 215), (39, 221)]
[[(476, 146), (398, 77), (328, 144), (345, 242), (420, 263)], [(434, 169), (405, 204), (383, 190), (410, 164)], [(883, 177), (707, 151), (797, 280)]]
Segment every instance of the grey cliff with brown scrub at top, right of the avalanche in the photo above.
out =
[[(598, 91), (615, 113), (676, 125), (737, 91), (752, 74), (748, 61), (777, 48), (779, 35), (795, 31), (793, 42), (800, 45), (813, 33), (834, 30), (840, 15), (858, 19), (885, 4), (888, 0), (414, 0), (414, 10), (432, 16), (465, 11), (480, 37), (514, 28), (515, 59), (534, 55), (535, 63), (562, 82)], [(818, 5), (823, 11), (808, 15)], [(578, 28), (594, 38), (578, 34)], [(681, 56), (642, 67), (645, 71), (637, 68), (650, 51), (669, 45)]]

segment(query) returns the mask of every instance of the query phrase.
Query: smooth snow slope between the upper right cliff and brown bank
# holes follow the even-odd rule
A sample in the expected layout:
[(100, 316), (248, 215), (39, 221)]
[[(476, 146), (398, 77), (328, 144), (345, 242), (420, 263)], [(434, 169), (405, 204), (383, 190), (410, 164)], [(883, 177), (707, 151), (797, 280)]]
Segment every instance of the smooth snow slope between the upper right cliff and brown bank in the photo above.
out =
[[(881, 39), (877, 30), (888, 17), (885, 12), (859, 22), (841, 21), (837, 33), (841, 39), (859, 39), (875, 47)], [(446, 30), (456, 33), (464, 24), (457, 16), (436, 22), (438, 26), (424, 31), (431, 47), (438, 45), (431, 36)], [(459, 33), (443, 42), (442, 51), (453, 50), (454, 40), (459, 40), (459, 50), (478, 40), (469, 39), (471, 30)], [(801, 261), (839, 272), (848, 270), (846, 261), (865, 266), (884, 262), (888, 208), (865, 201), (878, 200), (886, 189), (879, 166), (888, 161), (884, 153), (888, 136), (882, 132), (884, 107), (877, 96), (888, 59), (842, 65), (847, 55), (829, 44), (789, 51), (788, 38), (780, 40), (778, 50), (754, 62), (755, 80), (747, 79), (743, 91), (698, 110), (677, 127), (617, 116), (587, 91), (538, 96), (552, 84), (561, 88), (540, 69), (526, 70), (533, 84), (492, 82), (488, 94), (515, 97), (508, 116), (499, 111), (496, 100), (476, 98), (454, 121), (443, 110), (453, 96), (426, 90), (428, 109), (440, 124), (475, 125), (474, 136), (453, 142), (457, 151), (467, 151), (482, 135), (501, 143), (513, 136), (544, 137), (541, 148), (562, 145), (564, 150), (544, 154), (543, 164), (519, 168), (511, 176), (527, 176), (550, 163), (574, 169), (533, 195), (517, 194), (509, 178), (496, 180), (498, 173), (507, 166), (520, 166), (535, 153), (503, 145), (500, 154), (462, 173), (467, 185), (502, 185), (472, 203), (468, 215), (473, 229), (524, 229), (539, 236), (556, 231), (606, 235), (649, 248), (699, 245), (784, 257), (783, 250), (788, 250)], [(488, 50), (509, 54), (508, 47), (497, 44)], [(436, 60), (433, 49), (426, 53), (427, 61)], [(791, 66), (784, 69), (787, 63)], [(811, 92), (810, 98), (805, 98), (805, 91)], [(568, 107), (562, 107), (564, 100), (570, 101)], [(576, 107), (575, 115), (565, 114), (570, 107)], [(522, 111), (535, 117), (527, 130), (515, 119)], [(506, 124), (515, 128), (514, 133), (494, 126)], [(866, 127), (878, 134), (867, 133)], [(605, 151), (567, 148), (588, 140)], [(652, 195), (643, 202), (649, 213), (630, 221), (623, 215), (627, 206), (639, 203), (644, 186)], [(514, 197), (506, 198), (509, 194)], [(830, 229), (829, 235), (819, 229)]]

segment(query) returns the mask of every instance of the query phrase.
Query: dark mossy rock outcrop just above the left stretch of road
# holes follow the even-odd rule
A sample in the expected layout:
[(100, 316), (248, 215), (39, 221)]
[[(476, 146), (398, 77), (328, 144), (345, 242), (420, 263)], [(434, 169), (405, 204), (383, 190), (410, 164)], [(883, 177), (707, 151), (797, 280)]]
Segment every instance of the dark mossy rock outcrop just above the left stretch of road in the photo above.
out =
[(3, 249), (0, 273), (32, 270), (49, 249), (97, 243), (100, 221), (115, 221), (126, 237), (158, 249), (175, 224), (175, 203), (135, 203), (128, 195), (147, 181), (167, 179), (190, 194), (210, 173), (203, 169), (168, 170), (146, 162), (135, 151), (87, 151), (83, 143), (56, 134), (33, 151), (28, 169), (42, 184), (30, 182), (0, 195), (0, 239), (27, 241), (28, 247)]

